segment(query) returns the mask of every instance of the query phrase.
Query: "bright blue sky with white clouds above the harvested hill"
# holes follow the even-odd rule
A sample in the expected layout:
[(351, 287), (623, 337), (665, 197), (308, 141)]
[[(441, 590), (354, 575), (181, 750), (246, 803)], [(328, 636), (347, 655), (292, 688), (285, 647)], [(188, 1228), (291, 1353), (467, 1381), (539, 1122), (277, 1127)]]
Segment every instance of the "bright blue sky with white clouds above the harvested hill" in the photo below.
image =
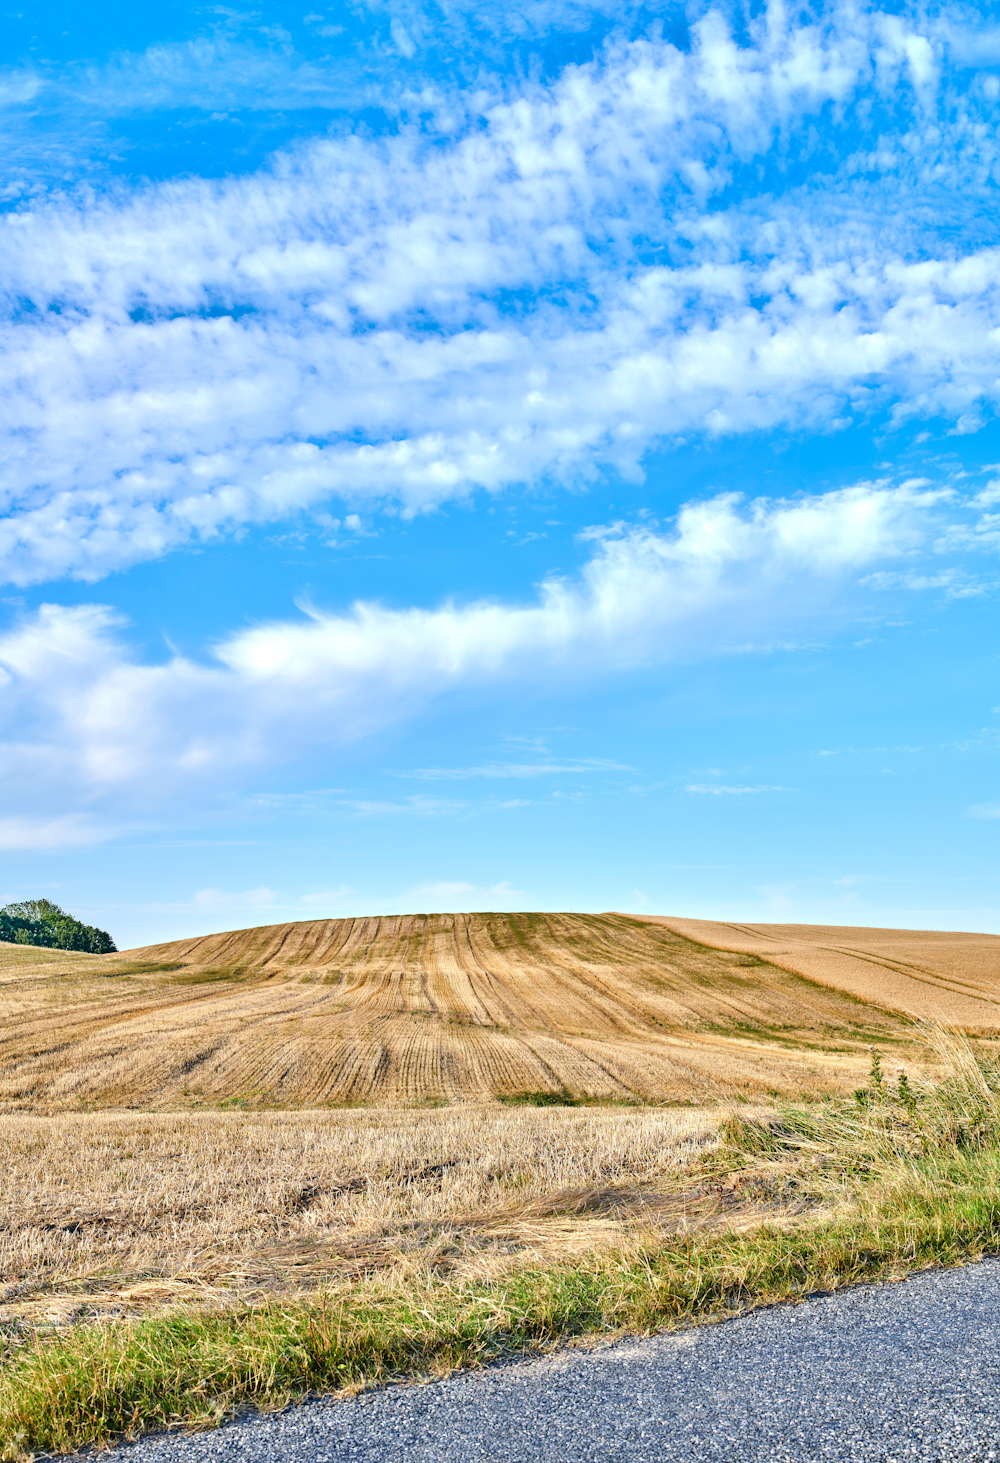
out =
[(1000, 930), (991, 7), (0, 25), (3, 898)]

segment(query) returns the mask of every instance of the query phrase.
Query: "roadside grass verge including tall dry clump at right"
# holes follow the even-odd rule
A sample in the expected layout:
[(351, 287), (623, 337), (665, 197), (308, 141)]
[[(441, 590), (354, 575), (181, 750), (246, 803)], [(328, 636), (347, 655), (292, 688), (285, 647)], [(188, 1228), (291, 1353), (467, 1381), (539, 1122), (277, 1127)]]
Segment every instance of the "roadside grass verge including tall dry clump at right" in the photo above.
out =
[(294, 1304), (173, 1312), (12, 1340), (1, 1457), (211, 1426), (319, 1391), (440, 1375), (580, 1337), (649, 1333), (1000, 1251), (1000, 1067), (931, 1033), (944, 1075), (766, 1118), (734, 1112), (702, 1184), (778, 1198), (766, 1222), (635, 1233), (488, 1280), (373, 1276)]

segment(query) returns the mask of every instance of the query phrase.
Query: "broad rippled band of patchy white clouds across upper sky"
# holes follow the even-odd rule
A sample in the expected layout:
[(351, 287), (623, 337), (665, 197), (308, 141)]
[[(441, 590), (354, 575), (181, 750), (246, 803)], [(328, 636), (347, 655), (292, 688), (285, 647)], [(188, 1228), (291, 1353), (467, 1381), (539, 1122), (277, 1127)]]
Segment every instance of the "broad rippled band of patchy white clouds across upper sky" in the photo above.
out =
[[(399, 23), (417, 44), (420, 16)], [(1000, 252), (914, 252), (899, 202), (924, 168), (968, 190), (1000, 159), (950, 92), (927, 113), (953, 31), (772, 6), (737, 45), (709, 12), (690, 53), (610, 42), (551, 85), (442, 99), (424, 130), (3, 215), (0, 576), (94, 579), (330, 497), (409, 512), (636, 474), (675, 433), (868, 401), (974, 426), (1000, 392)], [(183, 67), (154, 60), (170, 89)], [(826, 193), (706, 211), (775, 145), (819, 146), (823, 108), (883, 94), (902, 123)], [(845, 222), (873, 173), (886, 198)]]

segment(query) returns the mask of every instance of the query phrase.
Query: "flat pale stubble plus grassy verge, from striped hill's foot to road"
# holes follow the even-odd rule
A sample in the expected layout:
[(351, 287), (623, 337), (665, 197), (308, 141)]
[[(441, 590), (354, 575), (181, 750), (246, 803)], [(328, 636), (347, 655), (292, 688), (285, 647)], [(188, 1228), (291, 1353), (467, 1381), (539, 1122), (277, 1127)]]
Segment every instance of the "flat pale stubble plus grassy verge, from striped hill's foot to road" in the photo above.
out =
[(0, 1454), (996, 1254), (1000, 1067), (927, 1037), (930, 1083), (873, 1053), (854, 1097), (756, 1112), (0, 1118)]

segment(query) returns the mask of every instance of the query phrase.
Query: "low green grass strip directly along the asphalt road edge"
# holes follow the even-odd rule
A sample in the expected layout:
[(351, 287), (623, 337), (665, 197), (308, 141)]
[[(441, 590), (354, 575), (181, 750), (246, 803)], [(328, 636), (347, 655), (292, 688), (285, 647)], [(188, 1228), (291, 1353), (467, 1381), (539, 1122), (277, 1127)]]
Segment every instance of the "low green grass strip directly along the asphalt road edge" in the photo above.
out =
[(0, 1378), (3, 1459), (72, 1451), (241, 1404), (481, 1365), (561, 1337), (633, 1331), (902, 1276), (1000, 1251), (996, 1163), (883, 1195), (882, 1210), (649, 1241), (503, 1282), (365, 1283), (308, 1304), (80, 1327), (15, 1352)]

